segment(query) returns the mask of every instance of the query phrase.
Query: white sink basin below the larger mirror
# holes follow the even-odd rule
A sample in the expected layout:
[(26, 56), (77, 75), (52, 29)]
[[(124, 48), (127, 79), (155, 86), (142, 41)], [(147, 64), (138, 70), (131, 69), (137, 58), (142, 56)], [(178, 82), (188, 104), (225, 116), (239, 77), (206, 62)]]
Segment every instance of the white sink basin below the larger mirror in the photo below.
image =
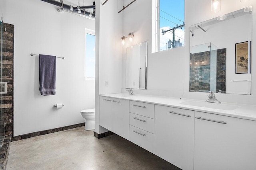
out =
[(180, 104), (189, 105), (189, 106), (197, 106), (197, 107), (206, 107), (211, 109), (220, 109), (220, 110), (234, 110), (237, 109), (238, 106), (227, 105), (227, 104), (218, 104), (218, 103), (208, 103), (208, 102), (196, 102), (196, 101), (186, 101)]

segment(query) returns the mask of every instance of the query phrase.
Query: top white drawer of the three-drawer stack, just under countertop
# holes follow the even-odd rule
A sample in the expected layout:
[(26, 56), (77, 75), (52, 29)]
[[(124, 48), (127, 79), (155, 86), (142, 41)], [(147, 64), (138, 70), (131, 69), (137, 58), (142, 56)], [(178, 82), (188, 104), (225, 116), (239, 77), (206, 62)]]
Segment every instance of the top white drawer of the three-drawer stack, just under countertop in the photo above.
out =
[(130, 112), (154, 119), (154, 104), (130, 101)]

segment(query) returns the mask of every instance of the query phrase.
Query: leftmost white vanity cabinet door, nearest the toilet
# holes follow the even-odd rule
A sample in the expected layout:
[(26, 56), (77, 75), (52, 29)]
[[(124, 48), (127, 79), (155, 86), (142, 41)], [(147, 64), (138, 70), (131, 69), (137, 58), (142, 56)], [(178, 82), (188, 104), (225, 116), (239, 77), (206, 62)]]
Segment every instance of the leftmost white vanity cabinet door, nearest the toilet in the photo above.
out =
[(112, 131), (112, 98), (100, 96), (100, 126)]

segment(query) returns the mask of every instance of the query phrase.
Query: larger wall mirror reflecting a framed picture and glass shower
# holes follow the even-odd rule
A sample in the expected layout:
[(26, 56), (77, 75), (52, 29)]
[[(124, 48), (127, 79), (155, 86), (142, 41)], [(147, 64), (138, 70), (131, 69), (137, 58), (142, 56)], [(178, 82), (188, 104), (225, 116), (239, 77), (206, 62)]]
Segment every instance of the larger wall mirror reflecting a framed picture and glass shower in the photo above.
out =
[(190, 92), (251, 94), (252, 7), (190, 26)]

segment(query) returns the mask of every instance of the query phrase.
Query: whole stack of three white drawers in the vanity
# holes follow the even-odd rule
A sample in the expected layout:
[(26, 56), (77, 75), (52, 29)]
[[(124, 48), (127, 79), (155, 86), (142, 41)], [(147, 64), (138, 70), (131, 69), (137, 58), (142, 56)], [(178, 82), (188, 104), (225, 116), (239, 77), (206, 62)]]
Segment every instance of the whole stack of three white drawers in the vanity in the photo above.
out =
[(129, 140), (154, 153), (154, 104), (130, 101)]

